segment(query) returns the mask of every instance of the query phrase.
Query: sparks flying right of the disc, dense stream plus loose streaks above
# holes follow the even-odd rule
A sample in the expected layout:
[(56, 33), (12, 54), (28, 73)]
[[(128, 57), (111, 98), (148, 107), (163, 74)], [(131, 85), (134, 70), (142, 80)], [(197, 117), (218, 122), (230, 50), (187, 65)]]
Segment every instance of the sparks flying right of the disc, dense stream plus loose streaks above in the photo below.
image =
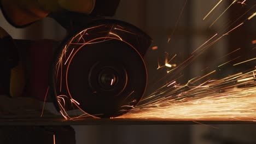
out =
[[(220, 2), (222, 1), (219, 1), (219, 3)], [(237, 1), (233, 1), (232, 4), (235, 2)], [(206, 17), (212, 13), (219, 3), (204, 17), (204, 19), (206, 19)], [(245, 3), (245, 1), (242, 3)], [(228, 10), (231, 5), (229, 5), (226, 10)], [(219, 17), (221, 17), (225, 11)], [(249, 18), (252, 19), (254, 15), (250, 16)], [(238, 19), (240, 18), (241, 17)], [(184, 69), (184, 67), (191, 63), (204, 50), (222, 39), (225, 35), (230, 34), (232, 31), (242, 26), (244, 22), (245, 21), (241, 22), (234, 28), (231, 28), (219, 38), (216, 38), (217, 34), (213, 35), (213, 37), (195, 49), (195, 51), (201, 49), (200, 52), (192, 52), (192, 56), (185, 60), (187, 62), (179, 64), (177, 69)], [(232, 25), (233, 24), (234, 23), (232, 23)], [(223, 57), (226, 57), (240, 49), (241, 48), (238, 48), (232, 52), (229, 52)], [(218, 67), (222, 67), (227, 63), (232, 63), (234, 60), (237, 60), (240, 57), (241, 56), (233, 58), (228, 62), (220, 64)], [(253, 61), (255, 59), (256, 58), (252, 58), (247, 61), (234, 64), (233, 67), (235, 67), (235, 65)], [(210, 67), (208, 66), (202, 71), (206, 69), (210, 69)], [(203, 76), (195, 77), (185, 84), (177, 83), (177, 81), (171, 81), (170, 83), (156, 89), (156, 91), (152, 92), (150, 95), (144, 97), (135, 107), (135, 109), (132, 109), (125, 115), (119, 116), (118, 118), (164, 118), (170, 121), (194, 122), (256, 121), (256, 67), (254, 70), (249, 69), (241, 73), (226, 76), (222, 79), (211, 79), (211, 75), (213, 73), (217, 73), (217, 70), (213, 70)], [(176, 74), (177, 73), (174, 72), (172, 73), (172, 75)], [(175, 77), (173, 76), (173, 78)]]

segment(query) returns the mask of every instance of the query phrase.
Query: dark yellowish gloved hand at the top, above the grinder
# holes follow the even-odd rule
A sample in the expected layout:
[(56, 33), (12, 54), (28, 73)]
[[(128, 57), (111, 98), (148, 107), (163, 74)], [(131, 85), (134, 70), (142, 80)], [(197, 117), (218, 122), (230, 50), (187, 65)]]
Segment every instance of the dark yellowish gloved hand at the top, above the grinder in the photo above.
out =
[(11, 25), (24, 27), (62, 9), (90, 14), (95, 0), (1, 0), (1, 6)]

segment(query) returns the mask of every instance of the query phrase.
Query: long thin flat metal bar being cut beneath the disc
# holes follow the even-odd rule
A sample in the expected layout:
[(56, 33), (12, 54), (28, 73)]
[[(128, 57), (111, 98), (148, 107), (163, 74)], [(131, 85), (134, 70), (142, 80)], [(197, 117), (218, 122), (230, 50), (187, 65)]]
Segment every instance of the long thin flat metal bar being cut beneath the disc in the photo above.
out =
[(0, 125), (173, 125), (173, 124), (256, 124), (253, 121), (177, 121), (168, 119), (86, 118), (67, 121), (63, 118), (1, 118)]

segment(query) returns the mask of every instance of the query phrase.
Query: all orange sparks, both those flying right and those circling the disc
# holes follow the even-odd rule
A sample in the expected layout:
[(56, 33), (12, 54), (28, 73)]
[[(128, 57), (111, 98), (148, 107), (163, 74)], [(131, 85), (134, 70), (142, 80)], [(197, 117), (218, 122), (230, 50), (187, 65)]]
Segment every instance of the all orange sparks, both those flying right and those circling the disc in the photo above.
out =
[[(211, 11), (207, 13), (207, 15), (203, 18), (203, 20), (205, 20), (207, 16), (209, 16), (212, 13), (212, 11), (216, 9), (222, 1), (223, 0), (220, 0), (211, 9)], [(241, 4), (244, 4), (245, 1), (241, 2)], [(218, 18), (212, 23), (212, 25), (214, 25), (214, 23), (218, 21), (218, 19), (222, 17), (222, 15), (236, 2), (237, 0), (232, 1), (229, 7), (226, 8), (223, 11), (223, 13), (218, 16)], [(171, 37), (177, 28), (179, 19), (182, 16), (186, 3), (187, 1), (185, 1), (185, 4), (183, 5), (183, 8), (181, 10), (181, 13), (179, 14), (178, 20), (176, 22), (176, 25), (171, 35), (168, 35), (169, 37), (168, 37), (167, 43), (171, 40)], [(248, 11), (246, 13), (248, 13)], [(254, 16), (255, 16), (255, 13), (249, 16), (248, 19), (246, 20), (251, 20), (252, 17)], [(239, 17), (238, 19), (240, 18), (241, 17)], [(199, 57), (203, 51), (211, 47), (213, 44), (217, 43), (217, 41), (222, 39), (225, 35), (230, 34), (232, 31), (242, 26), (246, 20), (240, 21), (241, 23), (235, 23), (236, 21), (234, 21), (231, 25), (225, 28), (225, 31), (214, 34), (210, 39), (205, 41), (205, 43), (202, 43), (202, 45), (197, 47), (191, 53), (191, 55), (181, 63), (171, 64), (171, 61), (173, 63), (177, 54), (173, 56), (167, 53), (165, 62), (163, 63), (161, 63), (158, 58), (157, 69), (158, 70), (161, 70), (161, 68), (167, 69), (167, 74), (161, 79), (159, 79), (159, 81), (166, 80), (165, 84), (162, 85), (160, 88), (158, 88), (156, 91), (152, 92), (150, 95), (146, 95), (146, 97), (144, 97), (137, 106), (134, 106), (134, 105), (120, 106), (121, 108), (131, 107), (132, 110), (127, 112), (125, 115), (119, 116), (117, 118), (143, 118), (143, 119), (144, 118), (165, 118), (170, 120), (184, 120), (184, 121), (185, 120), (256, 121), (256, 108), (255, 108), (256, 67), (253, 68), (254, 70), (248, 69), (246, 71), (242, 71), (234, 75), (226, 76), (222, 79), (212, 79), (211, 76), (218, 73), (218, 70), (212, 70), (211, 67), (207, 66), (203, 70), (201, 70), (201, 71), (207, 71), (211, 69), (211, 71), (208, 71), (206, 74), (202, 74), (202, 76), (194, 77), (193, 79), (188, 80), (188, 82), (185, 84), (178, 83), (177, 81), (178, 79), (183, 77), (183, 75), (178, 75), (178, 74), (181, 73), (182, 70), (184, 70), (184, 68), (186, 68), (197, 57)], [(55, 77), (57, 77), (56, 84), (59, 85), (60, 92), (61, 92), (62, 83), (66, 75), (66, 74), (62, 75), (62, 71), (64, 71), (63, 69), (65, 69), (65, 67), (67, 67), (66, 69), (68, 69), (69, 63), (71, 63), (75, 53), (81, 47), (87, 44), (101, 43), (102, 41), (107, 41), (112, 39), (118, 39), (125, 42), (125, 37), (122, 37), (124, 38), (122, 39), (120, 33), (136, 35), (135, 33), (125, 29), (124, 27), (117, 25), (117, 26), (111, 26), (112, 28), (109, 29), (109, 31), (107, 31), (107, 34), (106, 34), (107, 36), (101, 35), (100, 38), (95, 38), (90, 40), (86, 39), (87, 35), (92, 34), (90, 33), (90, 31), (94, 32), (93, 30), (95, 28), (101, 28), (102, 26), (105, 26), (105, 25), (99, 25), (96, 27), (84, 29), (84, 31), (75, 35), (71, 39), (71, 41), (63, 48), (62, 53), (59, 56), (59, 61), (56, 63), (56, 67), (55, 67)], [(254, 44), (253, 41), (252, 43)], [(75, 45), (75, 48), (73, 48), (73, 45)], [(152, 47), (152, 50), (157, 50), (157, 49), (158, 49), (158, 46)], [(232, 52), (229, 52), (223, 57), (226, 57), (231, 53), (234, 53), (240, 49), (241, 48), (238, 48)], [(66, 55), (69, 55), (69, 56), (66, 57)], [(172, 58), (168, 60), (171, 56)], [(256, 58), (252, 58), (252, 59), (248, 59), (247, 61), (233, 64), (234, 61), (240, 57), (241, 56), (238, 56), (231, 60), (228, 59), (227, 61), (225, 61), (225, 63), (220, 64), (218, 68), (219, 67), (223, 68), (223, 66), (227, 63), (232, 63), (231, 65), (235, 67), (238, 64), (243, 64), (256, 59)], [(63, 62), (65, 63), (63, 64)], [(166, 76), (170, 74), (172, 75), (171, 79), (165, 79)], [(113, 85), (113, 82), (114, 82), (114, 79), (112, 79), (110, 85)], [(67, 83), (65, 84), (66, 84), (66, 87), (68, 87), (68, 84)], [(129, 98), (130, 95), (132, 95), (133, 93), (135, 93), (135, 91), (131, 91), (131, 93), (126, 98)], [(97, 118), (97, 116), (92, 116), (89, 113), (86, 113), (83, 109), (79, 107), (80, 105), (79, 101), (72, 98), (72, 95), (69, 92), (68, 88), (67, 88), (67, 93), (65, 94), (59, 93), (59, 95), (57, 95), (57, 102), (60, 106), (61, 115), (67, 120), (75, 121), (75, 120), (84, 119), (87, 117)], [(131, 101), (131, 103), (133, 102), (135, 101)], [(68, 106), (68, 103), (71, 103), (73, 109), (80, 110), (80, 112), (82, 113), (77, 116), (69, 115), (68, 110), (66, 109), (66, 107)], [(43, 115), (43, 112), (42, 112), (42, 115)]]

